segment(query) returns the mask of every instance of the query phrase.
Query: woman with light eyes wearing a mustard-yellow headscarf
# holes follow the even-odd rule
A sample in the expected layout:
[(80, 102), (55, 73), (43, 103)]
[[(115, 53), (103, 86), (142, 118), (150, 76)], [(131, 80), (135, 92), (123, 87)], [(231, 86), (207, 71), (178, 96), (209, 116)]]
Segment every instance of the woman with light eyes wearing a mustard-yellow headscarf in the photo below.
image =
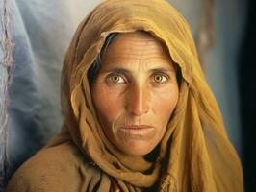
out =
[(190, 29), (164, 0), (107, 0), (62, 76), (64, 129), (7, 191), (243, 191)]

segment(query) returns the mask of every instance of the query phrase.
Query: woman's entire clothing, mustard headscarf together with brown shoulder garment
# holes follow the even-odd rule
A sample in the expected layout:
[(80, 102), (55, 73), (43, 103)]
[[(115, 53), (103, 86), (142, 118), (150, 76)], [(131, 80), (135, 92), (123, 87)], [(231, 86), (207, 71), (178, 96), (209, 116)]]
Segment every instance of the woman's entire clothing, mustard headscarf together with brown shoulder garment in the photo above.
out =
[[(155, 161), (127, 156), (105, 137), (87, 71), (106, 37), (143, 30), (166, 44), (181, 68), (177, 107)], [(79, 25), (64, 60), (64, 131), (15, 173), (8, 192), (241, 192), (240, 160), (198, 61), (184, 18), (165, 0), (107, 0)]]

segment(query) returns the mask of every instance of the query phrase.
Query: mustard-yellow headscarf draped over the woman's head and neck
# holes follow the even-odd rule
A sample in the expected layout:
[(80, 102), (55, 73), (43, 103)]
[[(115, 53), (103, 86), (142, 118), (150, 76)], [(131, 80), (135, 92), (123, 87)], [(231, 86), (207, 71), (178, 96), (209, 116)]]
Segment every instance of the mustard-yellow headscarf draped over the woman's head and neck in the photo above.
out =
[[(86, 78), (106, 36), (138, 30), (166, 44), (184, 79), (178, 105), (160, 143), (161, 153), (152, 164), (142, 157), (124, 156), (105, 138), (96, 121)], [(163, 184), (166, 180), (166, 188), (172, 190), (243, 191), (240, 162), (202, 73), (189, 26), (166, 1), (109, 0), (100, 4), (79, 25), (67, 51), (63, 77), (64, 102), (70, 98), (70, 108), (64, 108), (64, 113), (66, 119), (78, 124), (69, 126), (69, 132), (109, 175), (139, 187), (151, 186), (161, 174)], [(163, 159), (167, 165), (161, 173)], [(143, 174), (147, 169), (152, 169), (151, 173)]]

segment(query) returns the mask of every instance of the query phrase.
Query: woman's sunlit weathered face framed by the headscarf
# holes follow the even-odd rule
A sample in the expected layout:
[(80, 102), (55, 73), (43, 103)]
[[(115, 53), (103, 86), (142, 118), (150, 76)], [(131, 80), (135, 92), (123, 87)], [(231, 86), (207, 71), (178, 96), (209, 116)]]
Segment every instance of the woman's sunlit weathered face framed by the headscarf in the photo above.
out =
[(143, 156), (161, 141), (179, 89), (163, 45), (145, 33), (116, 36), (91, 86), (107, 138), (121, 152)]

